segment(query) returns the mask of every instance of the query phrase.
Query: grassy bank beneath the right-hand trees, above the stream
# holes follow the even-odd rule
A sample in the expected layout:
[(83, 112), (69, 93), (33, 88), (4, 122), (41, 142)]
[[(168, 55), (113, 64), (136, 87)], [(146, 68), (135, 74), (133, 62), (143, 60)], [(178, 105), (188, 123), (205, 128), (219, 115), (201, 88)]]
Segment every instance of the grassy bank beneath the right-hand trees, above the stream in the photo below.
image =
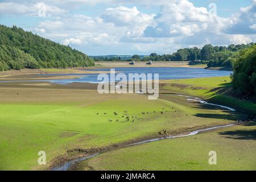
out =
[(168, 92), (188, 94), (189, 96), (201, 97), (210, 102), (234, 107), (237, 110), (255, 115), (256, 104), (253, 102), (239, 100), (217, 93), (222, 88), (231, 86), (230, 77), (192, 78), (184, 80), (165, 81), (164, 89)]

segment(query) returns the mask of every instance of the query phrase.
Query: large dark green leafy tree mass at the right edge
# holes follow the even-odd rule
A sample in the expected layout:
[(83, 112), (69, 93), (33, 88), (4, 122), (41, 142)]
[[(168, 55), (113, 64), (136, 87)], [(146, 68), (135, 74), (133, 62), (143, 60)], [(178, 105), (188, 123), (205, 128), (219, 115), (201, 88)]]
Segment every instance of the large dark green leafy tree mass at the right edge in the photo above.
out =
[(240, 95), (256, 94), (256, 45), (243, 49), (234, 60), (232, 82)]

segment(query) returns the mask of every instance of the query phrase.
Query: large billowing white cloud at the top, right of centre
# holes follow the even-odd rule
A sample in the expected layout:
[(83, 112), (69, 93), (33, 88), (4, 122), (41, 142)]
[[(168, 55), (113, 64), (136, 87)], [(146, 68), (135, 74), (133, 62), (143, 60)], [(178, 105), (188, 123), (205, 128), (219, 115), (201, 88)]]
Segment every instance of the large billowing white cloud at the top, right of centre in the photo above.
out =
[(145, 36), (193, 36), (200, 31), (218, 34), (229, 19), (209, 13), (205, 7), (195, 7), (187, 0), (180, 0), (163, 6), (154, 23), (144, 31)]

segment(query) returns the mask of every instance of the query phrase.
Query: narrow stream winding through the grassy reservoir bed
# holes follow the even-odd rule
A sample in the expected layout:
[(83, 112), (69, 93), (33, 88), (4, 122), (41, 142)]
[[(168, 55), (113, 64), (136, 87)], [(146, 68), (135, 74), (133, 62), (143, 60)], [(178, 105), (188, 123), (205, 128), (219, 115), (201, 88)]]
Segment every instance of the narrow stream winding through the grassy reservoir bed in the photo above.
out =
[[(175, 94), (175, 95), (176, 96), (181, 96), (181, 97), (186, 97), (188, 101), (196, 101), (196, 102), (200, 102), (201, 104), (213, 105), (213, 106), (218, 106), (218, 107), (222, 107), (222, 108), (228, 109), (230, 111), (236, 111), (235, 109), (233, 109), (231, 107), (217, 105), (217, 104), (211, 104), (211, 103), (203, 101), (203, 100), (201, 100), (200, 98), (197, 98), (197, 97), (190, 97), (190, 96), (185, 96), (185, 95), (181, 95), (181, 94)], [(214, 127), (209, 127), (209, 128), (206, 128), (206, 129), (199, 129), (199, 130), (191, 131), (191, 133), (189, 133), (189, 134), (174, 135), (174, 136), (168, 136), (168, 137), (159, 137), (159, 138), (154, 138), (154, 139), (143, 140), (141, 142), (135, 142), (135, 143), (127, 144), (124, 147), (136, 146), (136, 145), (139, 145), (139, 144), (156, 142), (156, 141), (164, 140), (164, 139), (173, 139), (173, 138), (179, 138), (179, 137), (189, 137), (189, 136), (192, 136), (192, 135), (199, 134), (202, 131), (209, 131), (209, 130), (219, 129), (219, 128), (222, 128), (222, 127), (230, 127), (230, 126), (234, 126), (234, 124), (223, 125), (223, 126), (214, 126)], [(77, 159), (74, 159), (74, 160), (70, 160), (70, 161), (68, 161), (68, 162), (66, 162), (64, 164), (60, 164), (58, 166), (55, 166), (55, 167), (51, 168), (51, 170), (52, 171), (67, 171), (71, 167), (72, 164), (80, 163), (80, 162), (82, 162), (84, 160), (93, 158), (94, 156), (97, 156), (97, 155), (100, 155), (100, 154), (101, 153), (96, 153), (96, 154), (92, 154), (92, 155), (89, 155), (89, 156), (84, 156), (82, 158), (77, 158)]]

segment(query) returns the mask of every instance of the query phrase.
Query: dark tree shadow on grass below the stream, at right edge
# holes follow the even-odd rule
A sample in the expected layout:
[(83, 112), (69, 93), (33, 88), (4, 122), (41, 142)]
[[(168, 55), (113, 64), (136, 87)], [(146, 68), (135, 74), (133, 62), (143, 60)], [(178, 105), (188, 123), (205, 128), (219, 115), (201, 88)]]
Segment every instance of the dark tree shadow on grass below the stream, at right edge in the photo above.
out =
[(256, 130), (224, 131), (218, 134), (225, 135), (226, 138), (232, 138), (232, 139), (256, 140)]

